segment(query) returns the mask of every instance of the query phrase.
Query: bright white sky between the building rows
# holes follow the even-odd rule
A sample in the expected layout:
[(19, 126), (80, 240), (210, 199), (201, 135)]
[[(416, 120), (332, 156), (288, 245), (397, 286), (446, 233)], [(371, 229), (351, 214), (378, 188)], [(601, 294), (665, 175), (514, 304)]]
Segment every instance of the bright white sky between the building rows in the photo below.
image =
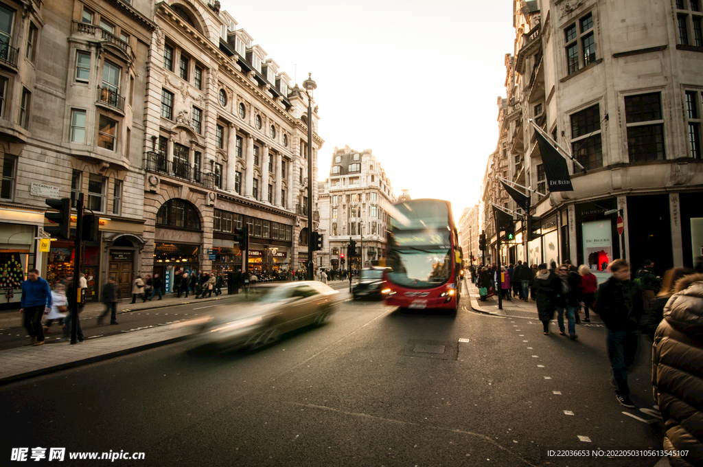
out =
[[(221, 1), (298, 84), (318, 85), (319, 179), (335, 146), (370, 148), (396, 195), (477, 203), (498, 141), (512, 0)], [(297, 71), (296, 71), (297, 70)]]

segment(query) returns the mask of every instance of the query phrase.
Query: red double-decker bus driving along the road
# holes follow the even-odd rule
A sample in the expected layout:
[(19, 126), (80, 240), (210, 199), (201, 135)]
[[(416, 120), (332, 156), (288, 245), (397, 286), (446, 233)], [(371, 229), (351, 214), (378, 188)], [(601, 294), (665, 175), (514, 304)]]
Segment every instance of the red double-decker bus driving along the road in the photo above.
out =
[(451, 203), (409, 200), (390, 215), (386, 305), (456, 313), (463, 258)]

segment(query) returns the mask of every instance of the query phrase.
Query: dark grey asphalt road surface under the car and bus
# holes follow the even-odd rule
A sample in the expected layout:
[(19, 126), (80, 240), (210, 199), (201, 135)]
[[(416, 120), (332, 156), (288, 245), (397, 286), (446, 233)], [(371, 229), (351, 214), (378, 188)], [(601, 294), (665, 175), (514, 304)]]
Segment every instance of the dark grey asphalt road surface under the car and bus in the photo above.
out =
[(610, 388), (605, 329), (579, 335), (467, 305), (427, 316), (345, 302), (258, 352), (186, 341), (0, 388), (0, 459), (65, 447), (144, 453), (123, 466), (654, 466), (593, 457), (661, 446), (648, 348), (631, 375), (644, 411), (630, 410)]

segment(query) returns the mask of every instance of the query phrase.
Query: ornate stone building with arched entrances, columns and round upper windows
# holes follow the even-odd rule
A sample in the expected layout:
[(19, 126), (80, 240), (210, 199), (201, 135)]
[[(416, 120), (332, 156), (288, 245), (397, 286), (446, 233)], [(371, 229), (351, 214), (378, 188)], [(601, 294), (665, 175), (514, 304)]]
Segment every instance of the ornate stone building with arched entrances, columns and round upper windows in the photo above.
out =
[[(249, 271), (307, 261), (307, 96), (226, 11), (162, 1), (148, 60), (141, 270)], [(316, 178), (317, 167), (313, 173)], [(316, 193), (312, 193), (316, 196)]]

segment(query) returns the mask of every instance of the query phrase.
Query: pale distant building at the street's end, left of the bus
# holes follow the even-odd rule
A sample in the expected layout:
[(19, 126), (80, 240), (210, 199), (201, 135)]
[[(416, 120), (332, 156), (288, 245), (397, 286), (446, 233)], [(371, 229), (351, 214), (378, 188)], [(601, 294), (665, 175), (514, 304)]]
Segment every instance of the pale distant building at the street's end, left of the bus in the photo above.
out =
[[(330, 177), (320, 191), (320, 228), (327, 233), (324, 247), (329, 252), (329, 262), (320, 266), (359, 269), (385, 258), (387, 208), (394, 203), (391, 181), (370, 149), (335, 147)], [(356, 252), (344, 258), (342, 267), (350, 239), (356, 241)]]

